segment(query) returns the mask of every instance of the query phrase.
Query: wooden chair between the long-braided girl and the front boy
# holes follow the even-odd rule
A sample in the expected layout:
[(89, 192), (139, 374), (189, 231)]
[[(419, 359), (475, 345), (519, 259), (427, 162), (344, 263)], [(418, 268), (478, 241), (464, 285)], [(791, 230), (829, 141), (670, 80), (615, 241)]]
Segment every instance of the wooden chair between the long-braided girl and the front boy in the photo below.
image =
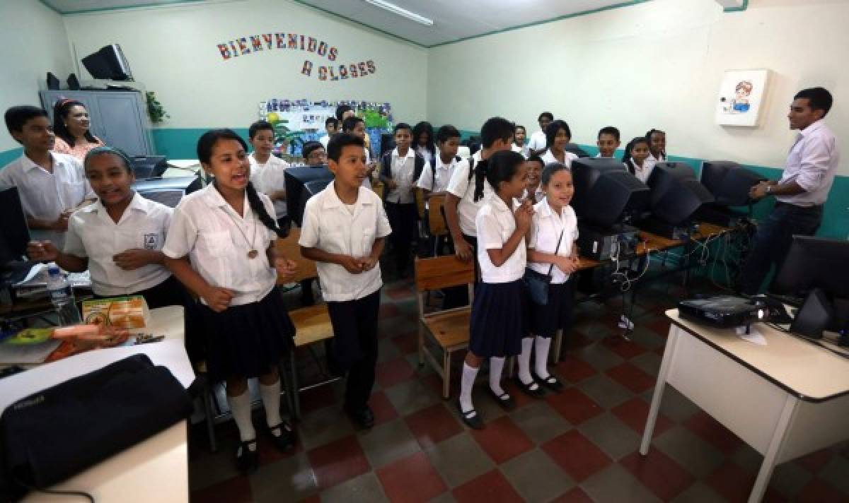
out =
[[(278, 239), (274, 244), (274, 248), (278, 254), (284, 255), (289, 260), (294, 260), (298, 265), (298, 271), (295, 272), (294, 278), (280, 278), (277, 283), (284, 282), (301, 282), (308, 278), (318, 277), (316, 263), (312, 260), (304, 258), (301, 255), (301, 245), (298, 240), (301, 238), (301, 229), (292, 227), (289, 236), (283, 239)], [(295, 349), (310, 347), (312, 344), (321, 343), (329, 338), (333, 338), (333, 325), (330, 323), (330, 315), (326, 304), (310, 305), (296, 310), (289, 311), (289, 317), (295, 325)], [(312, 352), (312, 348), (311, 348)], [(313, 353), (318, 366), (321, 363), (318, 357)], [(290, 352), (290, 371), (291, 371), (291, 397), (292, 397), (292, 413), (295, 419), (301, 417), (301, 400), (299, 394), (307, 388), (298, 387), (298, 372), (295, 366), (295, 351)], [(333, 383), (339, 377), (330, 377), (321, 383), (310, 386), (321, 386), (322, 384)]]

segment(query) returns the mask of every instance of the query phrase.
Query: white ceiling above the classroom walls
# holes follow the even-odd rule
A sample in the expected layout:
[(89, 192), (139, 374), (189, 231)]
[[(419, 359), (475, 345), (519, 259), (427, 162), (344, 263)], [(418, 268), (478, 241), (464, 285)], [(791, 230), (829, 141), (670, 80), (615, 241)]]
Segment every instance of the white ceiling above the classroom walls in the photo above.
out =
[[(115, 8), (159, 6), (204, 0), (42, 0), (59, 14), (76, 14)], [(419, 25), (363, 0), (295, 0), (336, 14), (361, 25), (431, 47), (446, 42), (481, 36), (517, 26), (532, 25), (569, 15), (586, 13), (627, 0), (390, 0), (401, 8), (434, 21)]]

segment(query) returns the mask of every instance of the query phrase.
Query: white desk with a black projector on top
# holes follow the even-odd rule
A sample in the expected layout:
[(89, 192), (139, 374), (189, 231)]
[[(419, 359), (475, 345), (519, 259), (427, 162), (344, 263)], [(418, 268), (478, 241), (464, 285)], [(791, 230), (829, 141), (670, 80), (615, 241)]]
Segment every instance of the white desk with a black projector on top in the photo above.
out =
[(666, 383), (693, 400), (764, 458), (749, 496), (760, 501), (773, 467), (849, 439), (849, 360), (756, 324), (767, 340), (672, 321), (640, 454), (649, 452)]

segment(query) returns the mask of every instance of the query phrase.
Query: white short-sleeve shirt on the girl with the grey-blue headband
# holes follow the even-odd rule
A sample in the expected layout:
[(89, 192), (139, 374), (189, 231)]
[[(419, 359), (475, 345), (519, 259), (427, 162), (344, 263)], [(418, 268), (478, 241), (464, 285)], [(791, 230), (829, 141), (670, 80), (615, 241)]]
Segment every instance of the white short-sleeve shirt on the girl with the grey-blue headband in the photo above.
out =
[(70, 216), (65, 254), (88, 258), (92, 288), (98, 295), (128, 295), (153, 288), (171, 276), (165, 265), (125, 271), (115, 265), (113, 257), (128, 249), (161, 250), (172, 211), (137, 193), (115, 223), (100, 201), (89, 204)]

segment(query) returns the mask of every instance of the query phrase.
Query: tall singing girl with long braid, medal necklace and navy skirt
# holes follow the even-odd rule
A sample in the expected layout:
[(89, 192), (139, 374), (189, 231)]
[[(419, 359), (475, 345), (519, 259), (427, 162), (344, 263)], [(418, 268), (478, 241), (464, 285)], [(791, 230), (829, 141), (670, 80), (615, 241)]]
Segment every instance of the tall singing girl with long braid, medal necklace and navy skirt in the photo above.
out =
[(257, 467), (248, 378), (259, 377), (273, 443), (290, 450), (295, 438), (280, 417), (278, 375), (295, 327), (275, 286), (278, 275), (294, 274), (295, 262), (274, 253), (274, 239), (282, 232), (271, 200), (249, 182), (246, 150), (245, 140), (228, 129), (200, 137), (198, 159), (215, 182), (180, 201), (162, 250), (174, 276), (200, 296), (207, 370), (213, 382), (227, 382), (242, 472)]

